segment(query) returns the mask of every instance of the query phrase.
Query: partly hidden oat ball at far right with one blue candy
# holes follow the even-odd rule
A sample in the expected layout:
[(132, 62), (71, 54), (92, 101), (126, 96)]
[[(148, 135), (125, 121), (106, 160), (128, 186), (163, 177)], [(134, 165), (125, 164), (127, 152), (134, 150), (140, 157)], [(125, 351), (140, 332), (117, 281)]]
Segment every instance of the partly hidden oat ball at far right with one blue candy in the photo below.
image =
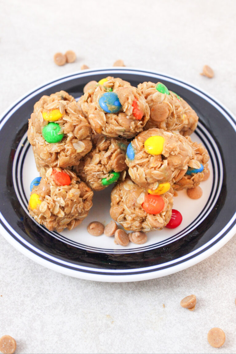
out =
[(209, 177), (209, 155), (207, 149), (201, 143), (192, 142), (189, 136), (186, 139), (194, 150), (195, 155), (194, 159), (189, 160), (188, 170), (185, 175), (173, 184), (174, 190), (195, 188), (200, 182), (205, 181)]

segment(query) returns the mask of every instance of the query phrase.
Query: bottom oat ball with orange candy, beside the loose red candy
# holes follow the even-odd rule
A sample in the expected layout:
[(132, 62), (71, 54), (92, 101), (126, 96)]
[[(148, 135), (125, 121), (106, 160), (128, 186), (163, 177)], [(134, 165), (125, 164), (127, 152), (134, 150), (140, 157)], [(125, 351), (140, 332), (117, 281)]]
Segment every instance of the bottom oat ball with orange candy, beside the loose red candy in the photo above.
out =
[(172, 206), (172, 188), (161, 195), (152, 195), (126, 178), (111, 192), (110, 215), (126, 230), (161, 230), (171, 218)]

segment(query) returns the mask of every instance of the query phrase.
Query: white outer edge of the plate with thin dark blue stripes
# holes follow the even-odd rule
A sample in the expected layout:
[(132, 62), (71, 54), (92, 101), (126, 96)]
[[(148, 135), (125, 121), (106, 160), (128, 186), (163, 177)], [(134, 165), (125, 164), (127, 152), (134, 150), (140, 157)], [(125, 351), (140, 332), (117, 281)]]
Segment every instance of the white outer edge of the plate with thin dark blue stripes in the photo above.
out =
[[(127, 74), (141, 75), (141, 76), (142, 75), (143, 76), (149, 75), (149, 76), (152, 76), (153, 78), (158, 78), (160, 80), (162, 78), (164, 80), (168, 80), (169, 82), (173, 82), (179, 86), (182, 86), (182, 87), (194, 92), (198, 96), (200, 96), (203, 99), (205, 99), (206, 101), (208, 101), (211, 105), (213, 105), (222, 115), (224, 115), (224, 117), (229, 121), (229, 123), (231, 124), (233, 129), (236, 131), (236, 124), (235, 124), (236, 117), (223, 104), (221, 104), (217, 99), (215, 99), (213, 96), (209, 95), (207, 92), (203, 91), (202, 89), (198, 89), (195, 85), (192, 85), (186, 81), (180, 80), (174, 76), (170, 77), (169, 75), (164, 74), (164, 73), (157, 73), (155, 71), (141, 70), (139, 68), (128, 68), (128, 67), (122, 68), (122, 69), (121, 68), (114, 68), (114, 67), (100, 68), (100, 69), (96, 68), (93, 70), (87, 69), (87, 70), (83, 70), (82, 72), (72, 73), (72, 74), (65, 76), (65, 77), (59, 77), (58, 79), (53, 80), (52, 82), (47, 82), (45, 85), (40, 85), (39, 87), (34, 89), (33, 92), (30, 91), (28, 94), (24, 95), (21, 99), (18, 99), (14, 104), (11, 105), (10, 108), (8, 108), (4, 112), (4, 114), (2, 114), (0, 119), (2, 119), (2, 117), (7, 112), (9, 112), (8, 115), (5, 117), (5, 119), (1, 122), (0, 129), (6, 123), (6, 121), (10, 118), (12, 113), (14, 113), (19, 107), (21, 107), (21, 105), (23, 105), (25, 102), (27, 102), (30, 98), (34, 97), (36, 94), (44, 91), (45, 89), (48, 89), (56, 84), (60, 84), (65, 81), (68, 81), (71, 79), (76, 79), (79, 77), (84, 77), (84, 76), (89, 77), (90, 75), (95, 75), (95, 74), (107, 74), (108, 71), (112, 74), (127, 73)], [(88, 74), (90, 74), (90, 75), (88, 75)], [(234, 122), (230, 119), (229, 115), (234, 120)], [(6, 225), (8, 230), (10, 232), (12, 232), (16, 236), (16, 238), (19, 241), (21, 241), (25, 246), (23, 244), (20, 244), (16, 239), (14, 239), (2, 227), (2, 225), (0, 225), (0, 231), (1, 231), (2, 235), (4, 236), (4, 238), (13, 247), (15, 247), (17, 250), (19, 250), (21, 253), (23, 253), (25, 256), (29, 257), (30, 259), (32, 259), (36, 263), (39, 263), (39, 264), (43, 265), (44, 267), (52, 269), (56, 272), (59, 272), (59, 273), (65, 274), (65, 275), (74, 276), (76, 278), (93, 280), (93, 281), (106, 281), (106, 282), (141, 281), (141, 280), (159, 278), (161, 276), (166, 276), (169, 274), (179, 272), (180, 270), (189, 268), (192, 265), (195, 265), (195, 264), (203, 261), (207, 257), (211, 256), (213, 253), (215, 253), (217, 250), (219, 250), (221, 247), (223, 247), (236, 233), (236, 225), (234, 225), (234, 227), (232, 227), (229, 230), (229, 232), (223, 236), (223, 238), (218, 240), (220, 238), (220, 236), (223, 235), (224, 232), (235, 221), (235, 218), (236, 218), (236, 213), (235, 213), (234, 216), (231, 218), (231, 220), (225, 225), (225, 227), (220, 231), (220, 233), (218, 233), (217, 235), (214, 236), (214, 238), (212, 238), (210, 241), (208, 241), (203, 246), (199, 247), (197, 250), (190, 252), (187, 255), (184, 255), (183, 257), (175, 259), (174, 263), (182, 262), (185, 258), (188, 258), (188, 257), (192, 257), (192, 258), (187, 259), (186, 261), (179, 263), (179, 264), (175, 264), (175, 265), (172, 265), (173, 262), (169, 261), (169, 262), (166, 262), (166, 263), (163, 263), (160, 265), (155, 265), (152, 267), (138, 268), (138, 269), (136, 269), (136, 270), (138, 270), (138, 272), (144, 271), (144, 273), (129, 274), (129, 273), (135, 272), (135, 269), (131, 269), (131, 270), (128, 270), (128, 269), (107, 270), (106, 269), (106, 270), (103, 270), (103, 269), (99, 269), (99, 268), (97, 269), (97, 268), (83, 267), (80, 265), (76, 266), (75, 264), (72, 264), (69, 262), (64, 262), (61, 260), (60, 260), (60, 263), (62, 265), (52, 263), (53, 261), (58, 262), (58, 258), (53, 257), (53, 256), (49, 256), (47, 253), (41, 252), (39, 249), (37, 249), (33, 245), (30, 245), (19, 234), (17, 234), (15, 232), (15, 230), (12, 229), (11, 225), (9, 225), (6, 222), (6, 220), (2, 217), (1, 213), (0, 213), (0, 217), (1, 217), (2, 221), (4, 221), (4, 224)], [(216, 242), (216, 243), (213, 244), (214, 242)], [(213, 245), (210, 248), (207, 248), (211, 244), (213, 244)], [(29, 247), (29, 249), (26, 247)], [(201, 252), (205, 248), (207, 248), (207, 249), (205, 251)], [(50, 258), (50, 260), (44, 259), (40, 255), (37, 255), (37, 254), (33, 253), (32, 251), (37, 252), (37, 253), (41, 253), (46, 258)], [(197, 255), (196, 253), (199, 253), (199, 252), (201, 252), (201, 253)], [(78, 268), (78, 270), (67, 268), (67, 265), (70, 265), (70, 266), (73, 265), (73, 267)], [(168, 266), (168, 268), (159, 269), (159, 268), (167, 267), (167, 266)], [(91, 269), (93, 270), (93, 273), (88, 273), (89, 271), (91, 271)], [(103, 270), (104, 273), (110, 273), (110, 274), (99, 274), (99, 272), (101, 272), (101, 270)], [(121, 273), (122, 271), (126, 271), (127, 273), (122, 274), (122, 275), (118, 274), (118, 273)]]

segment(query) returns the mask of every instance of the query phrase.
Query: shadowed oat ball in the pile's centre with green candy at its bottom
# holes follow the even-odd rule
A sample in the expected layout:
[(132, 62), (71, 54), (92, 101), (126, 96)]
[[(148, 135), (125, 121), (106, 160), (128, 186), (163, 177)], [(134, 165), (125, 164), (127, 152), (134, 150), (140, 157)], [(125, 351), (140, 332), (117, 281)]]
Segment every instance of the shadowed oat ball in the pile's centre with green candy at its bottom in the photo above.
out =
[[(95, 136), (96, 137), (96, 136)], [(75, 167), (77, 175), (93, 190), (102, 190), (119, 179), (125, 163), (128, 142), (125, 139), (100, 135), (91, 152)]]

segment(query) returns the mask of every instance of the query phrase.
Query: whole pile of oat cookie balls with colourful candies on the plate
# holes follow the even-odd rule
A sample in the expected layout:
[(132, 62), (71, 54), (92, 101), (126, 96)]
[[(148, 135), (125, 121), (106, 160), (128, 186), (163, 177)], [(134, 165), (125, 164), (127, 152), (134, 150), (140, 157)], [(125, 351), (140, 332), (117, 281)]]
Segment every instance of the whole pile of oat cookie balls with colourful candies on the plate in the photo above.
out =
[(78, 102), (65, 91), (41, 97), (28, 128), (40, 174), (30, 186), (30, 215), (48, 230), (71, 230), (88, 215), (93, 193), (115, 183), (110, 215), (126, 230), (179, 226), (173, 196), (187, 189), (199, 198), (209, 176), (207, 150), (189, 137), (197, 122), (161, 82), (134, 87), (108, 76), (88, 82)]

